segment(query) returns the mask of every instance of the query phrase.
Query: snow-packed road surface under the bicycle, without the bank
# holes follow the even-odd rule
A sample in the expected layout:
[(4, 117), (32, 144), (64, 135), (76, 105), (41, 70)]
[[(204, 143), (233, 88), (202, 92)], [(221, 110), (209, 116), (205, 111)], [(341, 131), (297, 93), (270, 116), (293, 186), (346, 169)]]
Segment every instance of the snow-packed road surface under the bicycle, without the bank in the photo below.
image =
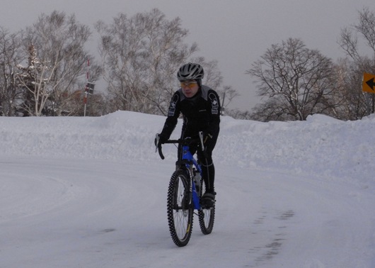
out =
[(166, 220), (173, 162), (0, 158), (0, 267), (370, 267), (374, 194), (218, 167), (214, 232)]

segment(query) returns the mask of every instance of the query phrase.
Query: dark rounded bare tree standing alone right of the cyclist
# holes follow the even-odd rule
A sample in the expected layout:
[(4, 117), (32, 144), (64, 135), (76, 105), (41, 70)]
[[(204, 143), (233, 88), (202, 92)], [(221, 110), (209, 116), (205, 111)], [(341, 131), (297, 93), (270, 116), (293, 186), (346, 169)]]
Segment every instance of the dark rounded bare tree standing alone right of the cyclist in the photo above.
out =
[(302, 121), (335, 106), (330, 103), (332, 67), (332, 61), (318, 50), (289, 38), (281, 45), (272, 45), (247, 73), (259, 80), (259, 96), (268, 96), (272, 104), (265, 105), (265, 118), (275, 113), (278, 120)]

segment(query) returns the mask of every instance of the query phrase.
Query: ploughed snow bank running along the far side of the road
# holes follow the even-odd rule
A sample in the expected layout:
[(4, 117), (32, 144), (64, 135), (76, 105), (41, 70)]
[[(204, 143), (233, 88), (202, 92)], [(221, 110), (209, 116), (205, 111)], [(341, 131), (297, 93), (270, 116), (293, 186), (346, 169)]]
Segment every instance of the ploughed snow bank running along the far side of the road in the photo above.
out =
[[(154, 136), (165, 118), (117, 111), (100, 118), (1, 118), (4, 155), (158, 161)], [(180, 122), (173, 133), (178, 138)], [(374, 182), (375, 116), (337, 121), (315, 115), (305, 122), (221, 118), (216, 164)], [(175, 158), (175, 148), (165, 147)]]

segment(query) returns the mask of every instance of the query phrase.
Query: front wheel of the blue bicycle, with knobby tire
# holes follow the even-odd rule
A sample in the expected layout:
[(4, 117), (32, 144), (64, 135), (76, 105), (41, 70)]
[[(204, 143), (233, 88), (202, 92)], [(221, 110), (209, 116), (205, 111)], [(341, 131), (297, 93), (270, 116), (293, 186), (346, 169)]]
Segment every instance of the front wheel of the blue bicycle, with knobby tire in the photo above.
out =
[(169, 232), (175, 245), (188, 245), (192, 233), (193, 208), (190, 179), (183, 169), (176, 170), (168, 187), (167, 214)]

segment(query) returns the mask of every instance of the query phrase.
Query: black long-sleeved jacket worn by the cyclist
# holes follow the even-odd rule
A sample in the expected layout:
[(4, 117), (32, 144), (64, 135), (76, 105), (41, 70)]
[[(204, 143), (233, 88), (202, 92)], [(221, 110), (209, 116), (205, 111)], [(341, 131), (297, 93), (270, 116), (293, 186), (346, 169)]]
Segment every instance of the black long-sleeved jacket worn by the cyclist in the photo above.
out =
[(201, 86), (192, 98), (186, 98), (182, 89), (175, 91), (168, 110), (168, 117), (164, 124), (161, 136), (168, 139), (180, 113), (183, 114), (183, 131), (181, 137), (194, 137), (203, 131), (214, 136), (219, 135), (220, 101), (217, 92), (208, 86)]

